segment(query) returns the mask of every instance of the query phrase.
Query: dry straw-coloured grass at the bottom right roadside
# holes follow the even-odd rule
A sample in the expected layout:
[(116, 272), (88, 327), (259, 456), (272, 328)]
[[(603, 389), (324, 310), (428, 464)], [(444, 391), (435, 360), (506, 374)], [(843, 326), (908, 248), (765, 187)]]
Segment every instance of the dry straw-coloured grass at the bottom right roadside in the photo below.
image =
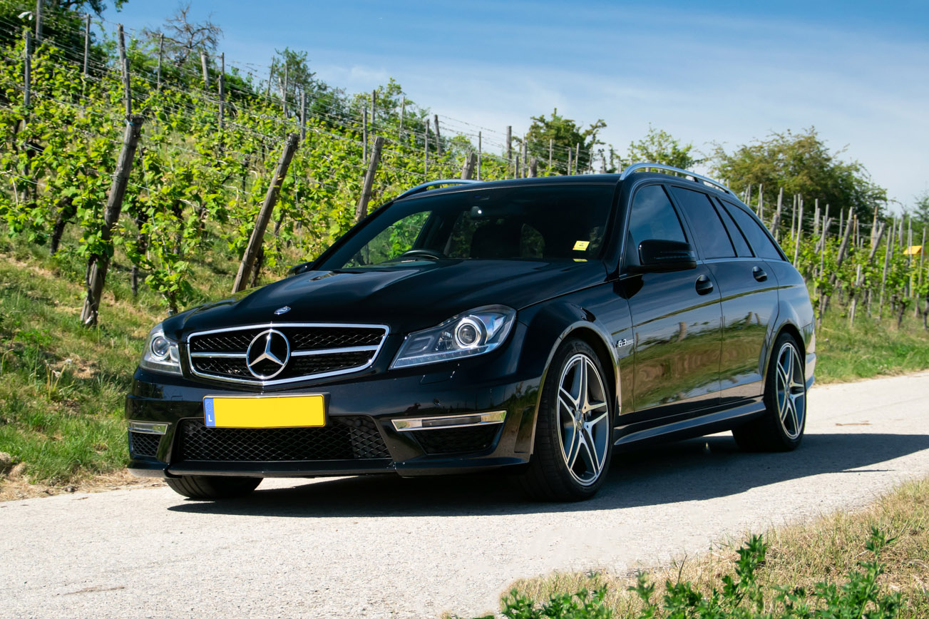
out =
[[(770, 592), (774, 586), (784, 585), (803, 586), (812, 591), (822, 580), (843, 583), (847, 574), (857, 568), (858, 561), (867, 559), (865, 544), (872, 526), (888, 538), (896, 538), (881, 555), (886, 573), (878, 584), (884, 591), (901, 592), (908, 599), (900, 613), (902, 619), (924, 619), (929, 616), (929, 480), (904, 483), (857, 512), (838, 512), (765, 532), (769, 547), (760, 584)], [(744, 541), (739, 539), (701, 557), (674, 562), (648, 573), (648, 579), (657, 585), (656, 599), (661, 599), (667, 581), (689, 581), (704, 596), (714, 587), (721, 589), (721, 578), (734, 573), (736, 549)], [(523, 596), (543, 602), (556, 594), (602, 585), (608, 590), (606, 606), (617, 617), (638, 614), (642, 604), (628, 590), (635, 586), (635, 575), (555, 573), (519, 580), (513, 588)], [(767, 599), (771, 597), (768, 595)]]

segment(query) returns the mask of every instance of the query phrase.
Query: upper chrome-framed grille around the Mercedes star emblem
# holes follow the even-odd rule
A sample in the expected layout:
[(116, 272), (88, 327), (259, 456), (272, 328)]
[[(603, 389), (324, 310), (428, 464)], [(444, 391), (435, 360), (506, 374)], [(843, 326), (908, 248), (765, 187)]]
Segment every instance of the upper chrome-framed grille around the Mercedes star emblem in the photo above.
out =
[[(278, 374), (268, 362), (253, 366), (257, 374), (270, 376), (262, 379), (249, 371), (246, 355), (255, 337), (268, 329), (287, 338), (290, 359)], [(263, 324), (191, 334), (188, 353), (195, 375), (268, 385), (364, 369), (374, 362), (386, 335), (384, 326)], [(281, 359), (285, 351), (281, 349)]]

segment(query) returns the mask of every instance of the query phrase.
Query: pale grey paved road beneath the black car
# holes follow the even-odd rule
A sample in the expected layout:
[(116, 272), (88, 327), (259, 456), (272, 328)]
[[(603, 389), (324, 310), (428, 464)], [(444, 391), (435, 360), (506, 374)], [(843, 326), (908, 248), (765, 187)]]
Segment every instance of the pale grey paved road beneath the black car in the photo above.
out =
[(819, 387), (809, 403), (793, 454), (741, 454), (724, 435), (629, 454), (582, 504), (528, 504), (487, 478), (3, 503), (0, 616), (467, 616), (518, 577), (625, 572), (929, 474), (929, 373)]

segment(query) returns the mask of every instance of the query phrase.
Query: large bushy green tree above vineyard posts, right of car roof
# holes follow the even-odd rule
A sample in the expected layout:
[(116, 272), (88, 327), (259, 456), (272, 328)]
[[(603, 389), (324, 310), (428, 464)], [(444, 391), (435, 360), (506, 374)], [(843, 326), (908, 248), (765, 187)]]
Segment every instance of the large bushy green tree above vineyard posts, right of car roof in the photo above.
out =
[(816, 128), (810, 127), (803, 133), (775, 133), (732, 153), (717, 144), (712, 165), (713, 172), (726, 178), (737, 193), (749, 183), (764, 185), (768, 191), (783, 187), (787, 195), (799, 193), (807, 202), (818, 199), (822, 207), (829, 204), (834, 214), (851, 207), (859, 219), (870, 222), (875, 209), (886, 202), (887, 192), (871, 182), (864, 165), (839, 159), (841, 153), (830, 151)]

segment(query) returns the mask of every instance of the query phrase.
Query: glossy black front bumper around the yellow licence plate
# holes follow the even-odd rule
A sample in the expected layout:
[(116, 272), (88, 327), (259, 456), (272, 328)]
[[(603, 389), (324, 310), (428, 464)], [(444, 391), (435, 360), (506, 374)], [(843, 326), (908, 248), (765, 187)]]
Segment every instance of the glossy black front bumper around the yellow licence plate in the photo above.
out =
[[(412, 477), (523, 465), (531, 451), (540, 378), (506, 372), (514, 366), (506, 357), (437, 364), (426, 367), (427, 374), (423, 369), (373, 371), (324, 384), (274, 389), (278, 394), (326, 398), (325, 428), (293, 431), (204, 428), (204, 397), (260, 391), (137, 370), (133, 392), (125, 402), (126, 418), (155, 424), (164, 434), (130, 429), (129, 469), (149, 477), (377, 473)], [(423, 424), (424, 419), (429, 421)], [(443, 420), (450, 420), (451, 426), (443, 426)], [(298, 431), (300, 436), (295, 434)], [(216, 437), (222, 444), (214, 441)], [(281, 440), (291, 446), (299, 442), (303, 451), (278, 449), (275, 441)], [(207, 448), (191, 447), (203, 441), (209, 443)], [(327, 449), (314, 452), (307, 441), (321, 441)], [(213, 449), (215, 443), (219, 448)], [(232, 443), (239, 451), (231, 450), (234, 453), (227, 457), (230, 450), (224, 445)], [(267, 449), (252, 450), (258, 443)]]

